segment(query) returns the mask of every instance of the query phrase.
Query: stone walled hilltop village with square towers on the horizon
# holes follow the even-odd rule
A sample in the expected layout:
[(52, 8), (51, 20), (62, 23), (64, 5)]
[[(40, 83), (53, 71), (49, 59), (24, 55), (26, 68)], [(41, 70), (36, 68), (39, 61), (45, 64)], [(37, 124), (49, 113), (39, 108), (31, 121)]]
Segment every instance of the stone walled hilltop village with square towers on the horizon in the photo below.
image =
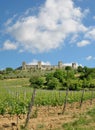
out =
[[(62, 61), (58, 61), (58, 65), (44, 65), (42, 64), (41, 61), (38, 61), (37, 64), (35, 65), (28, 65), (26, 62), (22, 62), (21, 69), (22, 70), (32, 70), (32, 69), (37, 69), (37, 70), (54, 70), (54, 69), (62, 69), (65, 68), (66, 65), (62, 63)], [(77, 69), (76, 63), (72, 63), (71, 67), (73, 69)]]

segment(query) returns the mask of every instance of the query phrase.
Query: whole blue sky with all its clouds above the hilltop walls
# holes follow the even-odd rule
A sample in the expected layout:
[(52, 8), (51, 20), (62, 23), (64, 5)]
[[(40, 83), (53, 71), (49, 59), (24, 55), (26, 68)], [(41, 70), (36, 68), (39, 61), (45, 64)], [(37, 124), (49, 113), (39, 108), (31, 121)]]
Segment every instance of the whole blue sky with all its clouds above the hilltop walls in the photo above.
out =
[(95, 0), (0, 0), (0, 69), (95, 67)]

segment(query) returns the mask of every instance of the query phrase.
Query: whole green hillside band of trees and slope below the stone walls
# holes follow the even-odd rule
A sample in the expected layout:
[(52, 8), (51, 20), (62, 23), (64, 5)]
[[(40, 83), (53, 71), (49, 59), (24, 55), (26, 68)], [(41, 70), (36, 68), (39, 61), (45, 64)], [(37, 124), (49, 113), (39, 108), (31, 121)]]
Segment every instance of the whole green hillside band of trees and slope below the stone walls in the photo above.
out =
[[(81, 67), (79, 66), (77, 70), (73, 70), (70, 66), (65, 69), (56, 70), (13, 70), (7, 67), (5, 70), (0, 71), (0, 82), (7, 79), (14, 79), (16, 81), (15, 85), (18, 86), (20, 79), (24, 78), (23, 82), (20, 84), (27, 86), (30, 84), (31, 87), (41, 88), (41, 89), (59, 89), (65, 90), (69, 87), (70, 90), (80, 90), (84, 88), (95, 88), (95, 68)], [(30, 79), (30, 80), (29, 80)], [(24, 81), (27, 83), (24, 84)], [(9, 86), (9, 83), (4, 83)]]

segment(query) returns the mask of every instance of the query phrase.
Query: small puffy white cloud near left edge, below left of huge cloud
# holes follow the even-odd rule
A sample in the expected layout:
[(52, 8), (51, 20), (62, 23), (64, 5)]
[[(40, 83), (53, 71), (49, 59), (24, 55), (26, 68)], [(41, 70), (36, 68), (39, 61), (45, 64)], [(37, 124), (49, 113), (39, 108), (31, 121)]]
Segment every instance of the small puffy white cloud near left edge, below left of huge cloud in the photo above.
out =
[(7, 40), (4, 42), (3, 45), (3, 50), (16, 50), (17, 49), (17, 45), (15, 45), (14, 43), (12, 43), (10, 40)]

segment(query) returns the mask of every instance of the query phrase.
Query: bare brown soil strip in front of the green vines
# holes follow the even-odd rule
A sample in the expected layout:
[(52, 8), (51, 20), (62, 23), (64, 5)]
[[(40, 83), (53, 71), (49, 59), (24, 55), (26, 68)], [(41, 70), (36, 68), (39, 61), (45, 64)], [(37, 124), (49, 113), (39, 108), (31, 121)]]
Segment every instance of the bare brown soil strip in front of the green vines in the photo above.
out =
[[(65, 130), (62, 125), (76, 120), (80, 114), (95, 107), (95, 99), (92, 104), (88, 100), (83, 102), (81, 108), (79, 106), (79, 102), (67, 104), (64, 114), (62, 114), (63, 106), (33, 107), (27, 130)], [(16, 115), (0, 115), (0, 130), (22, 130), (25, 121), (26, 115), (20, 115), (19, 118)]]

